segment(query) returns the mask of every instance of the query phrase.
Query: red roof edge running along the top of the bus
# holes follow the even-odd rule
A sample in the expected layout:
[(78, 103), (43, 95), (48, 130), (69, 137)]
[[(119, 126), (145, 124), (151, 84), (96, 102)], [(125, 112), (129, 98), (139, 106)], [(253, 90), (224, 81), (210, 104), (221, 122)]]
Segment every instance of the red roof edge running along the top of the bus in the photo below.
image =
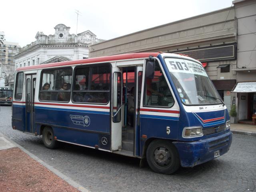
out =
[(129, 54), (122, 54), (122, 55), (112, 55), (112, 56), (88, 58), (88, 59), (82, 59), (82, 60), (72, 60), (72, 61), (64, 61), (64, 62), (57, 62), (57, 63), (26, 66), (26, 67), (20, 67), (16, 70), (17, 71), (24, 71), (24, 70), (41, 69), (41, 68), (49, 68), (49, 67), (60, 67), (60, 66), (75, 65), (75, 64), (108, 62), (108, 61), (136, 59), (136, 58), (147, 58), (149, 56), (156, 57), (156, 56), (158, 56), (158, 54), (159, 53), (150, 53), (150, 52), (147, 52), (147, 53), (129, 53)]

